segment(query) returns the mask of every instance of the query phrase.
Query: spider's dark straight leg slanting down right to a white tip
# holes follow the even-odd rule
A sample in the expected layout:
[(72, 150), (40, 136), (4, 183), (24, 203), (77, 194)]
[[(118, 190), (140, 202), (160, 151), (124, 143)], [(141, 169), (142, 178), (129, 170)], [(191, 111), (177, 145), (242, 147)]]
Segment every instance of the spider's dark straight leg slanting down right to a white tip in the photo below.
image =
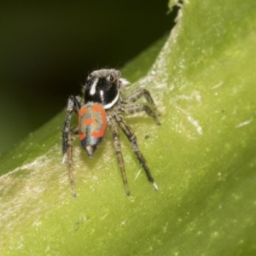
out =
[(122, 131), (124, 131), (125, 136), (131, 142), (131, 148), (132, 148), (133, 152), (137, 155), (137, 159), (139, 160), (141, 166), (143, 166), (143, 169), (145, 170), (145, 172), (147, 174), (148, 180), (151, 183), (153, 183), (154, 190), (158, 190), (158, 186), (156, 183), (154, 183), (154, 178), (153, 178), (151, 172), (149, 171), (147, 162), (144, 159), (143, 154), (141, 153), (140, 149), (138, 148), (137, 137), (136, 137), (134, 131), (131, 130), (131, 127), (125, 122), (125, 120), (120, 115), (118, 115), (116, 117), (116, 119), (117, 119), (119, 127), (121, 128)]

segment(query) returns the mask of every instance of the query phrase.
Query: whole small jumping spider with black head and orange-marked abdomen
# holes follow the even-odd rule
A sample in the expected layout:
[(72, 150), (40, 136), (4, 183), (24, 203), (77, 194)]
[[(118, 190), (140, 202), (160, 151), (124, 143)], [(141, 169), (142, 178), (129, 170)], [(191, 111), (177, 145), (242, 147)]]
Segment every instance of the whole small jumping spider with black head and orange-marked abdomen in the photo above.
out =
[[(131, 148), (136, 154), (141, 166), (147, 174), (149, 182), (158, 190), (154, 178), (149, 171), (146, 160), (137, 145), (137, 137), (131, 127), (125, 122), (120, 113), (146, 112), (160, 125), (154, 101), (148, 90), (138, 89), (130, 96), (121, 96), (125, 85), (130, 84), (126, 79), (121, 78), (121, 73), (116, 69), (96, 70), (88, 76), (83, 86), (84, 99), (79, 96), (69, 96), (67, 102), (67, 116), (62, 130), (62, 152), (64, 154), (63, 163), (67, 163), (68, 176), (72, 186), (73, 197), (76, 197), (73, 178), (73, 136), (79, 134), (81, 146), (85, 149), (89, 157), (93, 157), (94, 152), (102, 141), (106, 128), (110, 129), (113, 137), (118, 165), (122, 174), (126, 195), (130, 195), (130, 190), (125, 174), (125, 164), (120, 147), (118, 126), (125, 133), (131, 142)], [(148, 102), (149, 108), (144, 104), (133, 104), (142, 96)], [(70, 129), (72, 113), (79, 117), (79, 125)]]

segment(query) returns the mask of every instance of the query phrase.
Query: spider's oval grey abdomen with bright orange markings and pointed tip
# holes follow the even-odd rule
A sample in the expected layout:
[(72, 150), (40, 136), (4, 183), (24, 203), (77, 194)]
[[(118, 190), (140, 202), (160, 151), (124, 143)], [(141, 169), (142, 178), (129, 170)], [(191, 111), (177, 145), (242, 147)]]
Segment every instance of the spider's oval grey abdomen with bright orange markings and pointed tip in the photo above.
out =
[(102, 141), (107, 128), (107, 116), (99, 103), (89, 102), (79, 110), (79, 139), (90, 157)]

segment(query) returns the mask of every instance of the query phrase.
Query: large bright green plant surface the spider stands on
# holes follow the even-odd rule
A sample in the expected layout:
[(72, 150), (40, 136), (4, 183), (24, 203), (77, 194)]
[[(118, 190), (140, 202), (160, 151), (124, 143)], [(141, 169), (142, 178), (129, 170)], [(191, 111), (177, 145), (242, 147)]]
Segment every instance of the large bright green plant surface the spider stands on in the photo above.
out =
[(121, 135), (125, 195), (108, 131), (93, 159), (75, 142), (73, 200), (65, 111), (3, 155), (1, 255), (255, 255), (255, 29), (254, 0), (185, 1), (165, 45), (124, 68), (125, 93), (147, 88), (161, 113), (125, 117), (158, 192)]

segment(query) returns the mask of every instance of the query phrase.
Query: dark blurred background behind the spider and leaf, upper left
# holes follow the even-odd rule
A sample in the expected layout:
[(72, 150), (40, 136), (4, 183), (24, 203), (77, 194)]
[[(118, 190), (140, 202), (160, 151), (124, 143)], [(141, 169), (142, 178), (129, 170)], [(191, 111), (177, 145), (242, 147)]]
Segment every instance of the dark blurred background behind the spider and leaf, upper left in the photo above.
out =
[(92, 70), (120, 68), (170, 32), (167, 4), (0, 3), (0, 154), (65, 108)]

